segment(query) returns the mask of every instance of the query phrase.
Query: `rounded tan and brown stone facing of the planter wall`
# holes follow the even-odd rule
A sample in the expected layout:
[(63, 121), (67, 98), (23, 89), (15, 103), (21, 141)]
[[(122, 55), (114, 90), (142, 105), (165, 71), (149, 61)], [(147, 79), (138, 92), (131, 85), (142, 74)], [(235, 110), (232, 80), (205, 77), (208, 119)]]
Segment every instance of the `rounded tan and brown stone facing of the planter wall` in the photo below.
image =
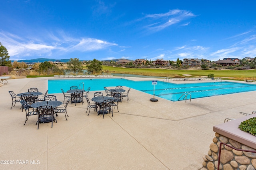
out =
[[(254, 150), (218, 133), (215, 133), (212, 141), (208, 155), (203, 157), (203, 166), (208, 170), (216, 170), (218, 168), (220, 142), (237, 149)], [(256, 170), (256, 153), (238, 151), (226, 145), (222, 145), (221, 149), (220, 170)]]

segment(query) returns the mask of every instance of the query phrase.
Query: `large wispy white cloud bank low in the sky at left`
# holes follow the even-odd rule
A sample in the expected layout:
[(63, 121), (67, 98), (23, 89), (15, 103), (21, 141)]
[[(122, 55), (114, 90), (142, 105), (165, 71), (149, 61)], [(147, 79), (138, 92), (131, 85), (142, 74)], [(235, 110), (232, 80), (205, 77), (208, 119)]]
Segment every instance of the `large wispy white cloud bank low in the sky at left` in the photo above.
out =
[[(47, 35), (47, 34), (46, 34)], [(6, 47), (11, 59), (22, 59), (25, 56), (51, 56), (52, 53), (67, 53), (72, 51), (98, 51), (106, 47), (117, 46), (94, 38), (73, 38), (62, 33), (57, 36), (49, 33), (43, 38), (19, 37), (8, 32), (0, 32), (1, 43)]]

